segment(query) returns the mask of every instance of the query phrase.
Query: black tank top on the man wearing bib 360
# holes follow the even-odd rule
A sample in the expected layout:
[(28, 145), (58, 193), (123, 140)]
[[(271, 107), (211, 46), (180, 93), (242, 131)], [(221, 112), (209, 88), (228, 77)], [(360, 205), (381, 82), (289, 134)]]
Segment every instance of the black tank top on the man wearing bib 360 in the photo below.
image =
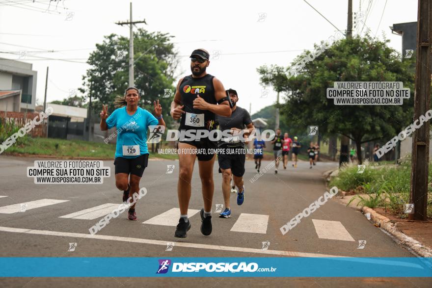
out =
[[(198, 94), (199, 97), (203, 98), (207, 103), (217, 104), (215, 98), (215, 87), (213, 86), (213, 78), (214, 76), (210, 74), (206, 74), (204, 77), (201, 78), (193, 78), (189, 75), (186, 76), (180, 83), (179, 89), (182, 105), (184, 105), (183, 110), (187, 112), (182, 114), (182, 118), (180, 120), (180, 130), (212, 130), (216, 128), (215, 113), (209, 110), (200, 110), (193, 108), (193, 100), (196, 99), (196, 96)], [(200, 119), (199, 117), (200, 114), (204, 114), (204, 123), (202, 123), (202, 119)], [(192, 117), (192, 119), (190, 117)], [(186, 119), (188, 119), (188, 123), (185, 123)]]

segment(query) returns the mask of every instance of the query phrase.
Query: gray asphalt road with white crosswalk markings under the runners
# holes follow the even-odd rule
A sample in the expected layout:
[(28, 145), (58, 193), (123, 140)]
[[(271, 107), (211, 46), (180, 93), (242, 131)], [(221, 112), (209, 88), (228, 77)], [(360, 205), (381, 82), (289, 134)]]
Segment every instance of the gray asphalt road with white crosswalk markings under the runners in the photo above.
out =
[[(270, 169), (255, 182), (250, 183), (249, 179), (256, 174), (256, 170), (253, 161), (247, 161), (244, 175), (244, 204), (237, 206), (235, 193), (232, 193), (232, 216), (221, 219), (217, 217), (218, 213), (214, 212), (211, 236), (203, 236), (200, 233), (199, 213), (190, 216), (189, 212), (192, 228), (187, 238), (179, 239), (174, 237), (175, 226), (161, 225), (169, 217), (160, 216), (162, 213), (178, 208), (178, 161), (151, 160), (141, 180), (140, 186), (146, 187), (148, 193), (137, 204), (138, 221), (128, 221), (127, 212), (124, 212), (118, 218), (112, 219), (97, 234), (97, 236), (106, 236), (104, 239), (89, 239), (83, 235), (88, 235), (88, 229), (101, 217), (79, 219), (80, 216), (77, 215), (85, 214), (85, 211), (76, 212), (107, 203), (120, 204), (122, 192), (115, 188), (114, 177), (105, 178), (103, 184), (34, 184), (33, 178), (27, 177), (27, 167), (33, 166), (33, 161), (36, 159), (40, 160), (40, 158), (0, 157), (0, 196), (7, 196), (0, 198), (1, 257), (414, 257), (390, 236), (372, 225), (362, 213), (341, 205), (335, 199), (330, 199), (307, 218), (303, 218), (286, 235), (281, 234), (280, 227), (324, 194), (326, 187), (322, 174), (326, 170), (337, 167), (337, 163), (334, 162), (319, 162), (313, 169), (309, 169), (307, 162), (299, 162), (297, 168), (291, 165), (286, 170), (279, 168), (278, 174), (274, 174), (274, 169)], [(263, 161), (262, 168), (267, 164), (268, 161)], [(114, 171), (113, 161), (104, 161), (104, 165), (110, 166), (111, 171)], [(175, 166), (172, 174), (166, 174), (167, 165)], [(196, 164), (189, 209), (200, 210), (202, 196), (197, 169)], [(221, 174), (217, 173), (217, 163), (214, 168), (214, 179), (213, 211), (216, 204), (223, 204)], [(20, 212), (19, 209), (16, 212), (1, 212), (5, 206), (40, 199), (67, 201), (27, 209), (25, 212)], [(72, 218), (61, 217), (69, 214), (72, 214), (69, 216)], [(239, 219), (241, 214), (246, 218)], [(85, 215), (81, 218), (85, 218)], [(143, 223), (150, 219), (153, 224)], [(252, 223), (256, 225), (245, 225), (248, 219), (252, 219)], [(325, 226), (329, 223), (334, 226)], [(320, 229), (320, 225), (324, 225), (324, 229)], [(28, 230), (36, 232), (29, 234)], [(114, 238), (114, 236), (122, 238)], [(367, 241), (364, 249), (357, 249), (358, 240)], [(262, 249), (262, 242), (265, 241), (270, 242), (268, 250)], [(174, 242), (172, 251), (165, 251), (167, 247), (165, 243), (168, 242)], [(68, 251), (69, 243), (77, 243), (75, 251)], [(276, 255), (270, 254), (269, 251)], [(134, 268), (119, 267), (119, 269)], [(136, 287), (137, 285), (144, 287), (171, 285), (179, 287), (226, 285), (432, 287), (432, 280), (430, 278), (232, 277), (0, 279), (1, 287)]]

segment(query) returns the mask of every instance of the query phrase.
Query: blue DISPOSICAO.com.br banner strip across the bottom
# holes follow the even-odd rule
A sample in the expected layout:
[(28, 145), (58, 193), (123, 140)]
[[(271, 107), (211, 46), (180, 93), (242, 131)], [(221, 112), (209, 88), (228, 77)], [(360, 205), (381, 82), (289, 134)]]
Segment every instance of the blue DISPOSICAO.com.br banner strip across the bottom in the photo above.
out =
[(432, 258), (2, 257), (0, 277), (432, 277)]

